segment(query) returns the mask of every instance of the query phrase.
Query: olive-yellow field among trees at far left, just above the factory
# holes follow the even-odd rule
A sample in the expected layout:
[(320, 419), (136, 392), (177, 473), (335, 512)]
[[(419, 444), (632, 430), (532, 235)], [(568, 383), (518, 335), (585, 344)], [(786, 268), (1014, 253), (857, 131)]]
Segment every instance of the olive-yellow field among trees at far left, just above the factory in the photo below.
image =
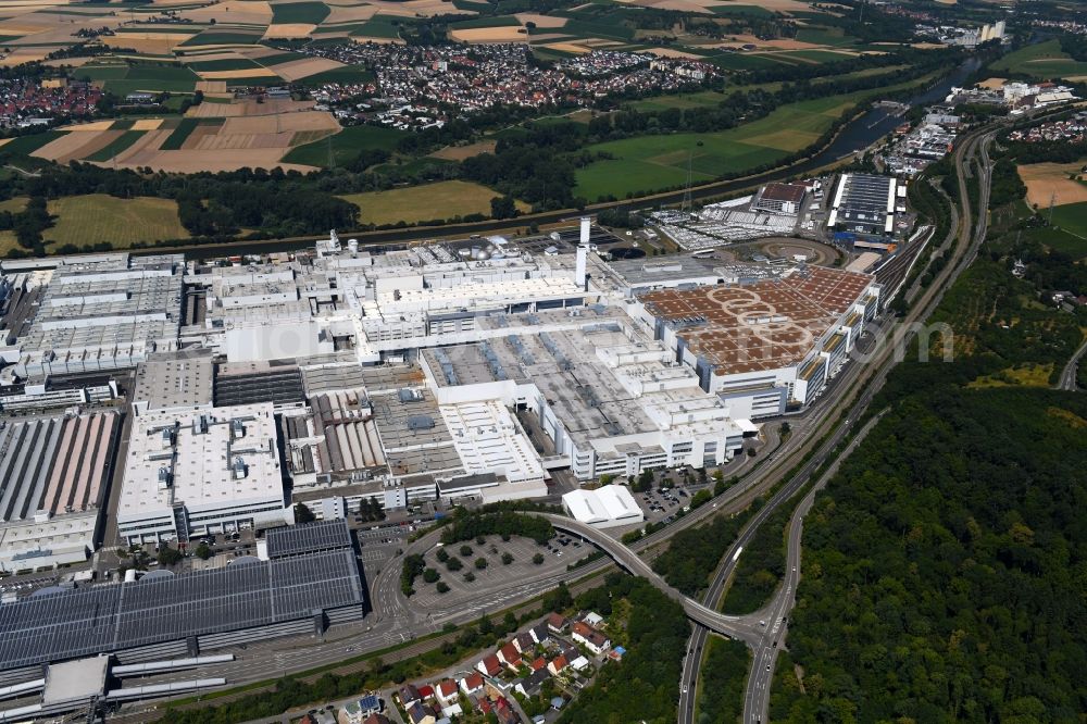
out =
[(55, 245), (83, 247), (109, 241), (114, 249), (123, 249), (137, 241), (189, 236), (177, 219), (177, 202), (172, 199), (118, 199), (90, 194), (52, 200), (49, 213), (57, 216), (55, 224), (41, 236)]

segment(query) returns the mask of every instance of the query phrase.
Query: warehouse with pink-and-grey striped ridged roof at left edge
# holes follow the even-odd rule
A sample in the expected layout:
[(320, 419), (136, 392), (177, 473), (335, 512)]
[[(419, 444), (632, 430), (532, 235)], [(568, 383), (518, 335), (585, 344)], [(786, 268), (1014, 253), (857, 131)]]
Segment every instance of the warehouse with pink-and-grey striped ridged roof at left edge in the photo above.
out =
[(87, 560), (116, 430), (113, 412), (0, 421), (0, 572)]

